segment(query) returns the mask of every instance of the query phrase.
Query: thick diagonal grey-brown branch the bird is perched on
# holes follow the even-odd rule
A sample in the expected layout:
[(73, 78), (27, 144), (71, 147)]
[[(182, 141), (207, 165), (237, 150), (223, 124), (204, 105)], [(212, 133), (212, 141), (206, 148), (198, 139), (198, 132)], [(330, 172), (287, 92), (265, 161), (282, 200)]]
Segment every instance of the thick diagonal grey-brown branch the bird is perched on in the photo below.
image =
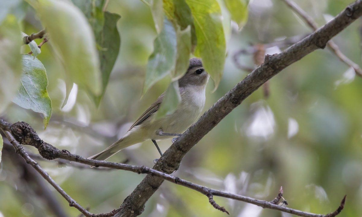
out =
[[(175, 144), (166, 150), (153, 169), (172, 173), (178, 168), (185, 154), (214, 128), (227, 114), (240, 105), (243, 100), (257, 90), (271, 77), (277, 75), (290, 64), (302, 59), (307, 54), (319, 48), (324, 48), (327, 42), (345, 29), (362, 15), (362, 1), (350, 4), (332, 21), (314, 33), (295, 43), (280, 54), (267, 55), (265, 62), (246, 76), (232, 90), (218, 100), (203, 116), (193, 124), (188, 131), (179, 137)], [(144, 204), (163, 183), (163, 179), (147, 175), (135, 190), (123, 202), (121, 212), (116, 217), (138, 216), (144, 209)]]

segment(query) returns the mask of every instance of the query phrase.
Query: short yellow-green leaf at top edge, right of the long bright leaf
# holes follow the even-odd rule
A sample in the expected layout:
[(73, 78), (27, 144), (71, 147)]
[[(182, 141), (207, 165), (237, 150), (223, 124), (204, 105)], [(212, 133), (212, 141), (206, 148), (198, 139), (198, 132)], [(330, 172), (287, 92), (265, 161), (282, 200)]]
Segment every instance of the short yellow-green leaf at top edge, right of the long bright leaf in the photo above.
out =
[(231, 19), (237, 23), (240, 31), (248, 20), (248, 1), (224, 0), (224, 3), (231, 14)]

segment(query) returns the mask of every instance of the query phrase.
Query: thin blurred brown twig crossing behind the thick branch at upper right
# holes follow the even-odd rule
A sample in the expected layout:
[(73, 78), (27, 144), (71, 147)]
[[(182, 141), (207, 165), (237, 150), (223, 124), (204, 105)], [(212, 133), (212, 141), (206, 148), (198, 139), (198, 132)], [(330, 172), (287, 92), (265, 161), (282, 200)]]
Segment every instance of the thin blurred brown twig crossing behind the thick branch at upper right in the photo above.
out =
[[(315, 21), (305, 12), (302, 8), (300, 8), (294, 1), (291, 0), (283, 0), (296, 14), (299, 14), (300, 17), (306, 21), (308, 26), (310, 26), (314, 31), (318, 29), (318, 25)], [(327, 46), (329, 50), (331, 50), (342, 62), (344, 62), (349, 67), (352, 67), (354, 69), (354, 72), (359, 77), (362, 77), (362, 69), (359, 67), (358, 64), (354, 63), (352, 60), (350, 60), (346, 55), (344, 55), (341, 50), (339, 50), (336, 43), (333, 41), (329, 41), (327, 43)]]

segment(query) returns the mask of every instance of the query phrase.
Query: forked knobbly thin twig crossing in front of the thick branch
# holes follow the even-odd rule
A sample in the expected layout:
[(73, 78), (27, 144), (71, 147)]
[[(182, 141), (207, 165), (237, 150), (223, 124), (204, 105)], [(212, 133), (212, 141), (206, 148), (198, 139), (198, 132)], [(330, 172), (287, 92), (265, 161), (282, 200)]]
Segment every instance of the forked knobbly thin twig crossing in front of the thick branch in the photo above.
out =
[[(113, 168), (113, 169), (121, 169), (121, 170), (132, 171), (132, 172), (138, 173), (138, 174), (142, 173), (142, 174), (148, 174), (151, 176), (159, 177), (162, 180), (167, 180), (169, 182), (179, 184), (181, 186), (188, 187), (192, 190), (202, 193), (209, 199), (209, 203), (215, 209), (218, 209), (227, 214), (229, 214), (228, 211), (224, 207), (221, 207), (219, 204), (217, 204), (216, 201), (213, 199), (213, 196), (220, 196), (220, 197), (226, 197), (226, 198), (230, 198), (230, 199), (234, 199), (234, 200), (244, 201), (247, 203), (258, 205), (263, 208), (276, 209), (276, 210), (280, 210), (282, 212), (295, 214), (297, 216), (304, 216), (304, 217), (323, 217), (323, 216), (325, 216), (322, 214), (308, 213), (308, 212), (303, 212), (303, 211), (296, 210), (296, 209), (287, 208), (285, 206), (277, 205), (277, 203), (279, 202), (279, 200), (282, 197), (282, 193), (283, 193), (282, 189), (279, 191), (278, 197), (275, 198), (273, 201), (268, 202), (265, 200), (258, 200), (258, 199), (254, 199), (251, 197), (245, 197), (245, 196), (237, 195), (234, 193), (229, 193), (229, 192), (225, 192), (225, 191), (219, 191), (219, 190), (207, 188), (205, 186), (201, 186), (199, 184), (195, 184), (195, 183), (189, 182), (187, 180), (180, 179), (176, 176), (169, 175), (167, 173), (163, 173), (158, 170), (151, 169), (149, 167), (134, 166), (134, 165), (128, 165), (128, 164), (124, 164), (124, 163), (114, 163), (114, 162), (86, 159), (81, 156), (71, 154), (67, 150), (64, 150), (64, 149), (59, 150), (59, 149), (55, 148), (54, 146), (52, 146), (51, 144), (41, 140), (39, 138), (39, 136), (37, 135), (37, 133), (34, 131), (34, 129), (25, 122), (17, 122), (14, 124), (10, 124), (8, 122), (5, 122), (3, 119), (0, 119), (0, 129), (3, 130), (5, 136), (11, 142), (11, 144), (13, 144), (16, 152), (25, 159), (26, 163), (29, 163), (31, 166), (33, 166), (34, 169), (37, 170), (38, 173), (40, 173), (43, 176), (43, 178), (45, 178), (60, 193), (60, 195), (62, 195), (68, 201), (68, 203), (70, 204), (71, 207), (77, 208), (81, 213), (83, 213), (87, 217), (109, 217), (109, 216), (113, 216), (116, 212), (118, 212), (119, 210), (122, 210), (122, 209), (113, 210), (109, 213), (103, 213), (103, 214), (90, 213), (87, 209), (84, 209), (81, 205), (79, 205), (76, 201), (74, 201), (69, 195), (67, 195), (67, 193), (62, 188), (60, 188), (60, 186), (58, 186), (43, 169), (41, 169), (41, 167), (38, 165), (38, 163), (29, 157), (29, 154), (25, 152), (25, 150), (22, 148), (22, 146), (20, 144), (34, 146), (35, 148), (38, 149), (41, 156), (46, 159), (60, 158), (60, 159), (66, 159), (69, 161), (84, 163), (86, 165), (95, 166), (95, 167), (108, 167), (108, 168)], [(343, 206), (344, 206), (344, 203), (343, 204), (341, 203), (340, 207), (342, 207), (342, 209), (343, 209)], [(339, 209), (340, 208), (338, 208), (337, 210), (339, 210)], [(336, 213), (336, 215), (340, 213), (341, 209), (338, 212), (337, 212), (337, 210), (333, 212), (333, 213)], [(331, 213), (327, 214), (327, 215), (331, 215)], [(329, 216), (329, 217), (333, 217), (333, 216)]]

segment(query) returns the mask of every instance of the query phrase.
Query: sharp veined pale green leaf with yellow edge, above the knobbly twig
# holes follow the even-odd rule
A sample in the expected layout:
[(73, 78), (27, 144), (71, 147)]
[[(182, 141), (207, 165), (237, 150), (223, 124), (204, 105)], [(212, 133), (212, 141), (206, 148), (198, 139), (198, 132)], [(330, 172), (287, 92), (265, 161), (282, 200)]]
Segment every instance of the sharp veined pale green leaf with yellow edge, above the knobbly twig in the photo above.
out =
[(41, 61), (29, 54), (22, 55), (23, 74), (18, 94), (13, 99), (17, 105), (44, 115), (44, 129), (51, 116), (51, 100), (46, 87), (48, 78)]

